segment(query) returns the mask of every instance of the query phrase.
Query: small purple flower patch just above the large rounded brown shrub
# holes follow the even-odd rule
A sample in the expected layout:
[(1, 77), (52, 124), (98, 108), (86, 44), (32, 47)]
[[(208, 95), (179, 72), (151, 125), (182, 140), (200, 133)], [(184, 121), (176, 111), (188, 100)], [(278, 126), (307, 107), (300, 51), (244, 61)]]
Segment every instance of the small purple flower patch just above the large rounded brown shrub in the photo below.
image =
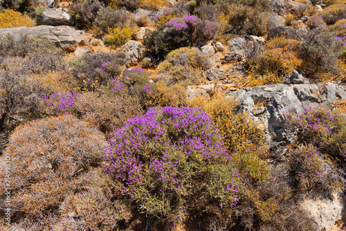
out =
[(63, 115), (75, 113), (75, 100), (78, 92), (57, 91), (48, 97), (42, 95), (43, 107), (48, 115)]

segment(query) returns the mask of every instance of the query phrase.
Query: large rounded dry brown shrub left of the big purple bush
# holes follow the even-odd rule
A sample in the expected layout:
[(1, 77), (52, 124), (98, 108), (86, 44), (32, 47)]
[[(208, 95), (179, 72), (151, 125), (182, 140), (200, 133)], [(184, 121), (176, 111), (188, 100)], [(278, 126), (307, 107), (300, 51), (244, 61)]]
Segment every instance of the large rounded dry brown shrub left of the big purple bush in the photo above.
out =
[(30, 223), (54, 213), (64, 195), (77, 189), (78, 176), (100, 165), (106, 147), (100, 131), (73, 115), (19, 125), (1, 156), (1, 209), (6, 207), (6, 156), (11, 165), (12, 221)]

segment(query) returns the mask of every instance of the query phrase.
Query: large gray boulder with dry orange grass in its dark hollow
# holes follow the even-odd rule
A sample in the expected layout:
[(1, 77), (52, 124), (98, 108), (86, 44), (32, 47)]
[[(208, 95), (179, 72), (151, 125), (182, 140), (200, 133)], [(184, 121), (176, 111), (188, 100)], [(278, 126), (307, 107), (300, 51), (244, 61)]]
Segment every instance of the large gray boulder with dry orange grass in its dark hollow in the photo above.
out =
[(237, 111), (246, 112), (254, 122), (260, 122), (268, 132), (276, 136), (273, 140), (291, 143), (295, 139), (293, 131), (285, 128), (286, 115), (284, 111), (304, 108), (294, 91), (284, 84), (255, 86), (242, 91), (233, 91), (227, 94), (228, 98), (240, 100)]

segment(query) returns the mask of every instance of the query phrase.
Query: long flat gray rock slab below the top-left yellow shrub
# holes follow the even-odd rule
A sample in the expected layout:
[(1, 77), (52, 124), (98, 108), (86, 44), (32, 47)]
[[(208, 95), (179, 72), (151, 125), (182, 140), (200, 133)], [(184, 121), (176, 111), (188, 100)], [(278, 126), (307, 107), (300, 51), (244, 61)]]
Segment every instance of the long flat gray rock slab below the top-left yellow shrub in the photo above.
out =
[(0, 35), (10, 33), (16, 39), (20, 39), (21, 35), (37, 35), (46, 37), (62, 47), (67, 52), (75, 51), (77, 46), (87, 45), (86, 37), (83, 30), (75, 30), (71, 26), (33, 26), (33, 27), (15, 27), (0, 29)]

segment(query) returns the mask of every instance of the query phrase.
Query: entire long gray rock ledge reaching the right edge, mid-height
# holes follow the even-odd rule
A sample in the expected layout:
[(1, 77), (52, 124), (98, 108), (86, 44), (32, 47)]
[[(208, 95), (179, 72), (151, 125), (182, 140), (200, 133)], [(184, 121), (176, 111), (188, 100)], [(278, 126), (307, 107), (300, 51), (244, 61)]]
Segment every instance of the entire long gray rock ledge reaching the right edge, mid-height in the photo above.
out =
[(346, 99), (346, 86), (337, 84), (271, 84), (249, 87), (227, 94), (228, 98), (239, 99), (238, 112), (245, 112), (254, 122), (268, 129), (268, 135), (276, 142), (295, 141), (295, 131), (286, 129), (284, 111), (295, 109), (302, 112), (318, 104)]

